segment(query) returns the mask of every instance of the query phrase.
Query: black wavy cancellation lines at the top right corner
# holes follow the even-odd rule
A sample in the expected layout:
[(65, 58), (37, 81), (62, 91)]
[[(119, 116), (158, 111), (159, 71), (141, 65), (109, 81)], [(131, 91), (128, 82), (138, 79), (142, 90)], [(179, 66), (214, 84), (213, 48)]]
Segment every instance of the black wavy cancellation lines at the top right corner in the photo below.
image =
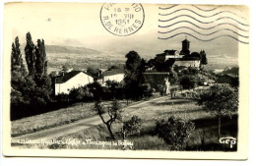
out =
[(247, 19), (236, 8), (172, 5), (159, 9), (159, 39), (189, 35), (200, 41), (212, 41), (228, 37), (249, 44)]

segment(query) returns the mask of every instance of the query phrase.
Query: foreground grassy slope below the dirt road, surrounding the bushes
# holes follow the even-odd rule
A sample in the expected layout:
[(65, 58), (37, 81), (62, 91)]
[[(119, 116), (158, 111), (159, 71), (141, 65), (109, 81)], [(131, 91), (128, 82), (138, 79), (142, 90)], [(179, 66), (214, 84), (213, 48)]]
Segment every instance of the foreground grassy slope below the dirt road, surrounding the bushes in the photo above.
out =
[[(191, 99), (164, 99), (153, 101), (143, 106), (134, 107), (133, 110), (124, 112), (124, 119), (130, 119), (131, 116), (137, 115), (142, 119), (142, 131), (140, 135), (130, 136), (127, 141), (133, 142), (132, 146), (125, 146), (125, 149), (134, 150), (168, 150), (167, 144), (154, 134), (156, 121), (167, 119), (170, 116), (179, 117), (187, 121), (195, 123), (195, 131), (186, 141), (185, 150), (228, 150), (219, 143), (218, 136), (218, 120), (212, 116), (196, 101)], [(36, 123), (37, 124), (37, 123)], [(116, 134), (121, 131), (121, 124), (113, 125), (113, 132)], [(237, 118), (223, 119), (222, 136), (230, 136), (236, 138), (237, 135)], [(87, 130), (74, 133), (65, 137), (56, 138), (62, 140), (68, 139), (92, 139), (100, 141), (110, 141), (108, 131), (104, 124), (93, 126)], [(116, 142), (122, 140), (116, 135)], [(68, 148), (68, 149), (123, 149), (123, 145), (100, 145), (100, 144), (50, 144), (50, 145), (27, 145), (27, 147), (35, 148)]]

